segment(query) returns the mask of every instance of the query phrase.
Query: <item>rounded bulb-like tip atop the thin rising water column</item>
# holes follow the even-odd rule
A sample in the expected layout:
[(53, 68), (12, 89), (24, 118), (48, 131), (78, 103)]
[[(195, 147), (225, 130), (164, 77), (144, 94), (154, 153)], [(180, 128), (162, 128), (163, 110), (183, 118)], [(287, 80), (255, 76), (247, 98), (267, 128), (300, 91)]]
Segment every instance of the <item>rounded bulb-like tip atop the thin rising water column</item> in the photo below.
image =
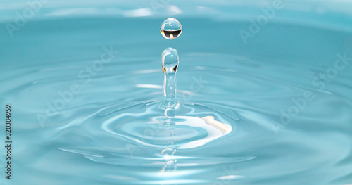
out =
[(167, 48), (161, 54), (161, 65), (165, 73), (176, 72), (178, 66), (178, 52), (176, 49)]

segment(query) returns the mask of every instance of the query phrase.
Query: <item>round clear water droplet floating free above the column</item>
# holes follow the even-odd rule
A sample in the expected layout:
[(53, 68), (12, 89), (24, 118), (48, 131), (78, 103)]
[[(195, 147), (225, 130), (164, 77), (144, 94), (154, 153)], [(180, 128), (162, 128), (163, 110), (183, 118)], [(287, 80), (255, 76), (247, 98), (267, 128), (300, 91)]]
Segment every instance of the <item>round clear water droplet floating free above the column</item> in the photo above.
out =
[(160, 32), (165, 39), (176, 39), (182, 33), (182, 25), (177, 19), (168, 18), (161, 24)]

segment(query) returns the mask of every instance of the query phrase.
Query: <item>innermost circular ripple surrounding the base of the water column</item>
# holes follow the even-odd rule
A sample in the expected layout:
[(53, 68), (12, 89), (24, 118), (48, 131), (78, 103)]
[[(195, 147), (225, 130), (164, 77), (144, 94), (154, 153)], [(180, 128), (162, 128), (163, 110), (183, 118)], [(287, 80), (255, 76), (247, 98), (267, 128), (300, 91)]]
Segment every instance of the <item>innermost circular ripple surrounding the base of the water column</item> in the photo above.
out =
[[(197, 107), (202, 111), (194, 111)], [(196, 104), (163, 110), (158, 103), (143, 103), (104, 115), (103, 129), (144, 146), (195, 148), (232, 132), (230, 124), (219, 121), (225, 120), (220, 114)]]

